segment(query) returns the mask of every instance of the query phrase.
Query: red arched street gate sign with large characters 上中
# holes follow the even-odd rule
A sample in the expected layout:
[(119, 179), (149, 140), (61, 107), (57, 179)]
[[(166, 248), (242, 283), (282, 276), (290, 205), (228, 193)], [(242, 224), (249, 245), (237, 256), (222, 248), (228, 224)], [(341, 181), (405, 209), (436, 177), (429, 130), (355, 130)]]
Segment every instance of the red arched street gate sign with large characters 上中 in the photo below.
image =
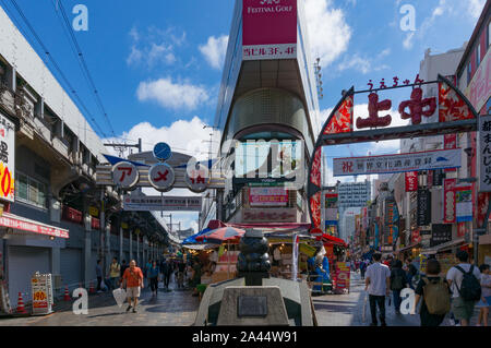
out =
[[(374, 88), (373, 82), (368, 83), (369, 89), (355, 91), (351, 87), (344, 95), (324, 123), (321, 134), (315, 142), (309, 165), (307, 195), (312, 228), (320, 228), (321, 221), (321, 164), (322, 147), (395, 139), (422, 137), (431, 135), (446, 135), (453, 133), (472, 132), (478, 129), (478, 113), (469, 100), (458, 91), (448, 79), (442, 75), (436, 81), (426, 82), (416, 76), (414, 83), (409, 80), (399, 84), (394, 77), (393, 84), (387, 85), (384, 79), (380, 87)], [(423, 97), (423, 85), (436, 85), (438, 96)], [(383, 94), (390, 89), (412, 88), (407, 100), (397, 106), (402, 119), (410, 120), (409, 125), (387, 128), (393, 117), (387, 115), (393, 105)], [(355, 96), (368, 95), (368, 116), (356, 116)], [(424, 118), (438, 115), (438, 122), (424, 123)], [(356, 123), (355, 123), (356, 122)], [(355, 131), (355, 125), (358, 128)]]

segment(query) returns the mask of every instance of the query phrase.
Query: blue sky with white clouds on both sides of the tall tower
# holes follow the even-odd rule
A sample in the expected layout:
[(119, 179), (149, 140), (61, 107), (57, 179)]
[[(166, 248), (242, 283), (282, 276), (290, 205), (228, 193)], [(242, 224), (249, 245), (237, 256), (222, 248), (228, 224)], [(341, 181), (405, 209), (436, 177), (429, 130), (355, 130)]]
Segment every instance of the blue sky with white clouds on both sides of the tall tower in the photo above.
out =
[[(16, 1), (110, 136), (70, 49), (55, 0)], [(344, 88), (364, 89), (370, 79), (414, 80), (427, 48), (441, 53), (470, 38), (484, 4), (484, 0), (304, 1), (313, 57), (322, 58), (321, 110), (332, 108)], [(26, 34), (11, 0), (0, 0), (0, 5), (5, 3)], [(141, 136), (145, 149), (167, 141), (177, 151), (205, 156), (209, 131), (203, 124), (212, 124), (215, 117), (233, 1), (63, 0), (70, 20), (79, 3), (88, 9), (88, 31), (75, 36), (116, 135), (130, 141)], [(404, 4), (416, 9), (414, 33), (400, 29)], [(27, 39), (41, 52), (29, 34)], [(366, 103), (363, 97), (357, 104)], [(370, 146), (373, 153), (396, 151), (394, 143)], [(330, 156), (350, 152), (366, 155), (367, 146), (336, 147)]]

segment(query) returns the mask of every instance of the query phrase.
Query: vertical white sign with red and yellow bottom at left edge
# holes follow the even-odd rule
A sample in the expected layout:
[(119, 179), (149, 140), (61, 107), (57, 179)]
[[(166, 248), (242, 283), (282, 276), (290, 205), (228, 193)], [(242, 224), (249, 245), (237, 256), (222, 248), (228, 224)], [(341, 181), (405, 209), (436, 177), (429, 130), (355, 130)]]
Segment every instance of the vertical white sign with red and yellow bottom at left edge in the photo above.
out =
[(14, 202), (15, 127), (0, 113), (0, 200)]

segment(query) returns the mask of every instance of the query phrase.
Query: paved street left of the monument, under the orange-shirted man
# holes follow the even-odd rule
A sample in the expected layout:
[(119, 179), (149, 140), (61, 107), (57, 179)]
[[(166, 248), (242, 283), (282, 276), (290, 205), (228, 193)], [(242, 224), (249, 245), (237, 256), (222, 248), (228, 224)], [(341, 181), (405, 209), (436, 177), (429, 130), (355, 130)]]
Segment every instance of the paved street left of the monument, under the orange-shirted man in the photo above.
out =
[(0, 326), (189, 326), (194, 322), (199, 307), (199, 299), (191, 293), (159, 289), (155, 298), (146, 288), (136, 313), (127, 313), (127, 302), (119, 308), (112, 295), (97, 293), (88, 298), (87, 315), (75, 315), (73, 301), (59, 301), (53, 314), (0, 320)]

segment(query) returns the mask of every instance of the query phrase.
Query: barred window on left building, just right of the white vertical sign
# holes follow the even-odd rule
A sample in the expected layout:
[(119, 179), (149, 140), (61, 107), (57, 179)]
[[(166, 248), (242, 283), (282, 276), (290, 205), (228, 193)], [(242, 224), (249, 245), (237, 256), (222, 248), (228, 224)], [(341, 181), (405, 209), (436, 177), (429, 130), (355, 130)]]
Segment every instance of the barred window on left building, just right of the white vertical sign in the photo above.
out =
[(40, 208), (48, 207), (48, 185), (28, 176), (16, 172), (15, 197), (20, 202), (35, 205)]

